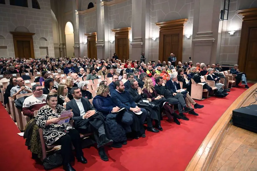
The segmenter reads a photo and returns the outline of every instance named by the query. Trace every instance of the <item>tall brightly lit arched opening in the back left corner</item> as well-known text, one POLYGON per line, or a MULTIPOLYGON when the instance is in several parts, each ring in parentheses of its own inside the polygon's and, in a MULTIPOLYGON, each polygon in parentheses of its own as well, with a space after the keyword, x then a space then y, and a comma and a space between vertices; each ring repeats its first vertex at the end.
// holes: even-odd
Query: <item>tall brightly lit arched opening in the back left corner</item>
POLYGON ((67 57, 74 56, 74 27, 71 21, 67 21, 65 24, 65 42, 66 42, 66 54, 67 57))

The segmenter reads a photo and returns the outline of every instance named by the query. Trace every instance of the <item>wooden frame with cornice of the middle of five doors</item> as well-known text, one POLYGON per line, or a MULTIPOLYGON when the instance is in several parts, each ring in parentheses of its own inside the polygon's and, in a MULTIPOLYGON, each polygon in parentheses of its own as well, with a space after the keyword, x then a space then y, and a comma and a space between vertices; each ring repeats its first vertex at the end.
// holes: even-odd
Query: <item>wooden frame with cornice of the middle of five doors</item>
MULTIPOLYGON (((115 33, 115 53, 118 54, 118 39, 120 38, 126 38, 127 46, 126 46, 126 56, 127 59, 129 59, 129 42, 128 42, 128 33, 131 27, 124 27, 124 28, 117 28, 112 29, 112 31, 115 33)), ((119 56, 118 56, 119 57, 119 56)), ((126 60, 127 60, 126 59, 126 60)), ((123 60, 123 59, 120 59, 123 60)))

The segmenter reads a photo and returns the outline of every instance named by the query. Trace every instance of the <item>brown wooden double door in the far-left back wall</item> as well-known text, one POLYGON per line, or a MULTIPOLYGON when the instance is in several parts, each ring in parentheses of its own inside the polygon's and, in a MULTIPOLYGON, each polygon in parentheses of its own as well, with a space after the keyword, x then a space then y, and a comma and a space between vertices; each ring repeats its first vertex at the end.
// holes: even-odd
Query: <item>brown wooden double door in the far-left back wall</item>
POLYGON ((17 41, 18 57, 29 59, 31 58, 30 41, 17 41))

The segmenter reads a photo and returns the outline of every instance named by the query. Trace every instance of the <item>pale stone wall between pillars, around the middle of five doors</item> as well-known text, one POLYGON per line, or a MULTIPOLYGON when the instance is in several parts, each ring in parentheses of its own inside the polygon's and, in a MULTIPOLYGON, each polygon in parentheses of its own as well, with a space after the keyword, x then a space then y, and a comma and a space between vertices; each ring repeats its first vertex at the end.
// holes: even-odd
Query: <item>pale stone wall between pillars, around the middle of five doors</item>
MULTIPOLYGON (((109 56, 113 56, 115 53, 115 42, 111 43, 110 40, 115 39, 115 34, 112 29, 131 27, 132 16, 132 2, 131 0, 118 3, 108 7, 108 30, 109 30, 109 56)), ((130 31, 131 34, 131 31, 130 31)), ((130 38, 132 36, 130 35, 130 38)), ((129 43, 129 56, 131 56, 132 47, 129 43)))

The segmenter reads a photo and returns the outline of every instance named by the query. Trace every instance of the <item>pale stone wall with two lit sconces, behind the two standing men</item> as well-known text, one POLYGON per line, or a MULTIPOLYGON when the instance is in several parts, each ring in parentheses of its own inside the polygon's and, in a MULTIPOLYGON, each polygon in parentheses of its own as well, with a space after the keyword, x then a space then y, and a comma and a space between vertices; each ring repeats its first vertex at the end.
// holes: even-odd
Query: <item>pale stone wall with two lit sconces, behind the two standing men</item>
MULTIPOLYGON (((192 34, 194 0, 151 0, 150 1, 150 34, 149 34, 149 60, 159 60, 159 28, 154 24, 162 21, 176 19, 188 19, 185 23, 184 34, 192 34), (156 40, 152 40, 156 37, 156 40)), ((183 56, 182 61, 189 60, 191 54, 192 36, 183 36, 183 56)))

